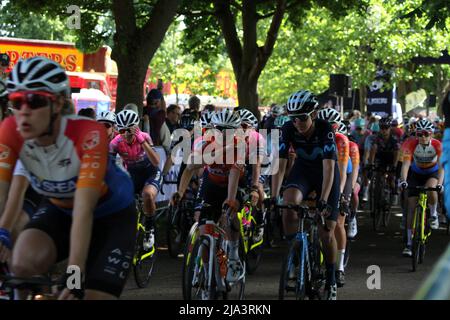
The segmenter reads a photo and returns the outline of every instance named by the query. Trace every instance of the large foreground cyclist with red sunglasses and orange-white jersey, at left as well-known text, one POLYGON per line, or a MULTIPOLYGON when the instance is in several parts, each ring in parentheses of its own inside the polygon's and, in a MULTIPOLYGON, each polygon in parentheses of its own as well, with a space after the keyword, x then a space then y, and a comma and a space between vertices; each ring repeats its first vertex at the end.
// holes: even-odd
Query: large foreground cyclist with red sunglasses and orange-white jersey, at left
MULTIPOLYGON (((108 157, 106 131, 95 121, 61 115, 69 79, 47 58, 19 60, 7 87, 14 117, 0 126, 0 197, 20 159, 30 184, 46 198, 17 239, 13 273, 44 274, 68 258, 69 266, 80 268, 82 286, 64 289, 60 299, 118 298, 133 255, 136 215, 131 180, 108 157)), ((8 208, 0 222, 3 253, 10 250, 6 240, 17 214, 8 208)))

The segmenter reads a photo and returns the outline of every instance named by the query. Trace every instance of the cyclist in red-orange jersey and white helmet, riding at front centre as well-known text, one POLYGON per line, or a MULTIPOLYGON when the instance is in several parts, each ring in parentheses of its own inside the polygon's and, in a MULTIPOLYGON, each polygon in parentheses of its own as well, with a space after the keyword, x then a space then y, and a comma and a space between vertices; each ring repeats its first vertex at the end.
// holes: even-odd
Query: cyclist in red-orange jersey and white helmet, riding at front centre
MULTIPOLYGON (((213 213, 214 221, 218 221, 224 207, 232 209, 230 215, 232 227, 228 230, 230 241, 228 243, 227 279, 230 282, 235 282, 244 271, 239 257, 239 221, 236 215, 239 204, 236 197, 239 180, 244 176, 243 163, 245 161, 245 159, 238 159, 239 153, 236 153, 236 150, 239 146, 245 145, 243 141, 238 141, 238 137, 235 134, 236 129, 239 129, 241 126, 238 112, 228 109, 217 111, 213 114, 211 123, 222 135, 216 135, 217 131, 208 130, 203 137, 194 141, 191 159, 181 177, 178 192, 172 195, 172 203, 176 204, 183 197, 193 174, 198 169, 205 167, 198 198, 202 203, 210 205, 208 211, 213 213), (212 133, 215 134, 213 135, 212 133), (216 140, 220 138, 224 140, 216 140), (228 152, 232 152, 232 163, 227 162, 230 158, 228 152), (195 162, 199 159, 201 159, 201 163, 195 162)), ((199 221, 202 224, 206 218, 203 216, 204 211, 201 210, 201 207, 197 207, 196 211, 201 212, 199 221)), ((200 226, 200 233, 202 232, 203 227, 200 226)))

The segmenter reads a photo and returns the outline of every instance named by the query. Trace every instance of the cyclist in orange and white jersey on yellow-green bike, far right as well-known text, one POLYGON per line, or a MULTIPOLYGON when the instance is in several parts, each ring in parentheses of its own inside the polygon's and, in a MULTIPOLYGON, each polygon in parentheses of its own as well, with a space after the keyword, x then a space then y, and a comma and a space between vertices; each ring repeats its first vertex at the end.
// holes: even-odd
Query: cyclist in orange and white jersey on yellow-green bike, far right
MULTIPOLYGON (((439 162, 442 154, 442 144, 433 139, 433 124, 428 119, 416 122, 416 138, 405 141, 402 145, 403 166, 399 186, 405 190, 408 186, 437 187, 443 190, 444 169, 439 162)), ((408 190, 407 235, 408 242, 403 250, 404 256, 411 256, 412 216, 417 204, 418 191, 408 190)), ((430 227, 439 228, 437 216, 438 196, 435 191, 428 192, 430 208, 430 227)))

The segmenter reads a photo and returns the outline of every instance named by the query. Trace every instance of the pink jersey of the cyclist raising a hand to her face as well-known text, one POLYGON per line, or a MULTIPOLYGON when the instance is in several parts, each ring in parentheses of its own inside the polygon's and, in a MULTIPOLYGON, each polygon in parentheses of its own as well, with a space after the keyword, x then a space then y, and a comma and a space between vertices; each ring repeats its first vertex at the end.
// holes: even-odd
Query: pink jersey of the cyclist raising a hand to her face
MULTIPOLYGON (((151 146, 153 145, 152 138, 145 133, 140 132, 145 141, 151 146)), ((119 154, 126 166, 142 162, 147 158, 144 147, 137 141, 136 137, 133 137, 133 142, 129 144, 122 135, 116 136, 109 144, 109 150, 112 154, 119 154)))

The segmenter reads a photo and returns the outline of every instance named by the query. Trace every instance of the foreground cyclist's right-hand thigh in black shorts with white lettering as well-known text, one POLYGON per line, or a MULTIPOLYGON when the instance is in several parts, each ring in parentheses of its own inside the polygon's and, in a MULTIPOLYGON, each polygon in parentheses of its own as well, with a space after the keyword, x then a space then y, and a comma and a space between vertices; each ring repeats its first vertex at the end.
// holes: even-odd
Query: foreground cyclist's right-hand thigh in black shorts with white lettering
POLYGON ((94 220, 86 262, 85 299, 117 299, 133 259, 136 208, 129 207, 94 220))

